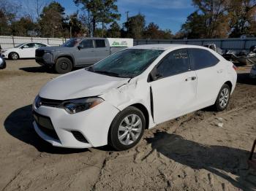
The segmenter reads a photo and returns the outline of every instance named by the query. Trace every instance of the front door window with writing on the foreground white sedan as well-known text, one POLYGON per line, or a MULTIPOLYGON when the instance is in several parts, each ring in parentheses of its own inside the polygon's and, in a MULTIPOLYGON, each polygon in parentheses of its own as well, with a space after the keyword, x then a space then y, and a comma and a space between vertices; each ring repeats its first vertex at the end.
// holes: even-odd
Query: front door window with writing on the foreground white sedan
POLYGON ((170 77, 176 74, 189 71, 190 63, 186 49, 174 50, 165 57, 159 66, 157 72, 162 77, 170 77))

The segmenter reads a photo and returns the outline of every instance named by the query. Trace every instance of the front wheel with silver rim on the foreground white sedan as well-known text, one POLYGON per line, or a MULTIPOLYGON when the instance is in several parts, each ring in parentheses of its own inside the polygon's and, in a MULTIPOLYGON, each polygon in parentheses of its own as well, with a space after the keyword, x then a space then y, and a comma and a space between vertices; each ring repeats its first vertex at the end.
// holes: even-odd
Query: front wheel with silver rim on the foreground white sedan
POLYGON ((118 151, 130 149, 138 144, 145 127, 146 120, 143 112, 136 107, 129 106, 119 112, 110 125, 108 144, 118 151))

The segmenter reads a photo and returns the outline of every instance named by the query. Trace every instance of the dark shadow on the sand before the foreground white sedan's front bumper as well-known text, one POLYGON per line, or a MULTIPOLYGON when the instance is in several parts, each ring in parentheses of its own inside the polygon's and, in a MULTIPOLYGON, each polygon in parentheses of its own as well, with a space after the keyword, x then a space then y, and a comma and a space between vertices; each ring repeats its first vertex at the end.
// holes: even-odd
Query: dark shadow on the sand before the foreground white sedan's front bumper
POLYGON ((32 106, 24 106, 12 112, 4 121, 4 128, 11 136, 33 145, 39 152, 48 152, 52 154, 71 154, 78 152, 86 152, 89 149, 67 149, 53 147, 48 142, 42 140, 34 130, 32 122, 32 106))

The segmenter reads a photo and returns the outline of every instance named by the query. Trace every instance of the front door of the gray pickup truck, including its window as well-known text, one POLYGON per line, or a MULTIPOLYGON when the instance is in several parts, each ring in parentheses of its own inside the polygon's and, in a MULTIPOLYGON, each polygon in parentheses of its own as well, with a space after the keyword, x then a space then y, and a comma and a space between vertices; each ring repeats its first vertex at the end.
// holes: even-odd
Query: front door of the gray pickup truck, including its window
POLYGON ((91 65, 95 63, 94 43, 92 39, 84 39, 75 50, 77 65, 91 65))

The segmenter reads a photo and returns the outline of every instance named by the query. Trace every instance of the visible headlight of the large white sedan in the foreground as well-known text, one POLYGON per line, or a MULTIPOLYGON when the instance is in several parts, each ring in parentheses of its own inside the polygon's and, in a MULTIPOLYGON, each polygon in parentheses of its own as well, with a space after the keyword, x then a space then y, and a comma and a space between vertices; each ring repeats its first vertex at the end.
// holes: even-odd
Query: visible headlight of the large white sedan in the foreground
POLYGON ((69 114, 75 114, 78 112, 83 112, 87 109, 91 109, 94 106, 97 106, 101 104, 104 100, 102 98, 79 98, 79 99, 73 99, 69 101, 65 101, 63 106, 64 109, 69 114))

